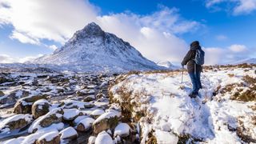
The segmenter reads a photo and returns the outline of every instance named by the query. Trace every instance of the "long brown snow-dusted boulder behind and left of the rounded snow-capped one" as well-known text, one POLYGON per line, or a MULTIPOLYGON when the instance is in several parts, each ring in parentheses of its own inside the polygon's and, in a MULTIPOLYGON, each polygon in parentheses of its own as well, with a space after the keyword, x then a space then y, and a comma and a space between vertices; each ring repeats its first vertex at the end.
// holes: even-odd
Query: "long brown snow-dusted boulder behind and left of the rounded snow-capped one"
POLYGON ((46 99, 47 95, 32 95, 26 98, 21 98, 14 106, 15 114, 31 114, 31 107, 33 103, 39 99, 46 99))

